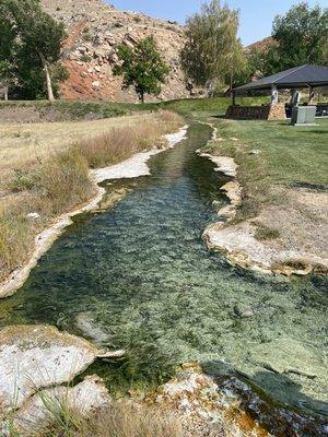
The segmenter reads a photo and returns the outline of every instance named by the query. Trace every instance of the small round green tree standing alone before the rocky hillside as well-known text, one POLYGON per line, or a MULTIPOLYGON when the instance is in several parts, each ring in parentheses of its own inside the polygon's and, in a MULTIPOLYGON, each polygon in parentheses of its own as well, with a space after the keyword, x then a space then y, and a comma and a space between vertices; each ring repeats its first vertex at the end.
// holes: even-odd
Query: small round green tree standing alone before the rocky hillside
POLYGON ((124 88, 134 86, 141 103, 144 103, 144 94, 161 93, 161 84, 165 82, 169 69, 153 36, 141 39, 133 48, 121 44, 117 55, 120 63, 115 66, 114 74, 124 76, 124 88))

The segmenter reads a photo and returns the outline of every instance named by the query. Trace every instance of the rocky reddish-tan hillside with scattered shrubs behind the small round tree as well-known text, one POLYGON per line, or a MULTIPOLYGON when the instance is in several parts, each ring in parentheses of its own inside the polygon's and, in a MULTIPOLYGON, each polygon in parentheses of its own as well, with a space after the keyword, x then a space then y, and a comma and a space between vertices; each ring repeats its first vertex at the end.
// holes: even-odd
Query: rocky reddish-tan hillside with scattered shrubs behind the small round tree
POLYGON ((134 91, 122 91, 121 79, 113 75, 118 61, 116 49, 121 43, 133 46, 149 35, 155 37, 171 67, 160 99, 189 95, 179 67, 184 31, 176 23, 119 11, 102 0, 42 0, 42 4, 67 28, 63 62, 70 76, 61 85, 63 98, 136 102, 134 91))

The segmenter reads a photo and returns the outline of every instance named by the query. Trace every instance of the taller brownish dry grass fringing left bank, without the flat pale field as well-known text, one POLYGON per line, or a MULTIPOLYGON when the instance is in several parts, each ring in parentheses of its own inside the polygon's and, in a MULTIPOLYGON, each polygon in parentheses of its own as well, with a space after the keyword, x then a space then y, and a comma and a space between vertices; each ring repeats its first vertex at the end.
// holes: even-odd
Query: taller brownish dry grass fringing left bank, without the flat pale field
POLYGON ((115 164, 138 151, 160 145, 163 134, 183 125, 179 116, 168 111, 140 120, 141 125, 136 120, 118 128, 112 125, 108 133, 57 153, 24 158, 28 164, 14 169, 10 164, 11 176, 0 184, 0 281, 26 261, 40 231, 93 196, 89 167, 115 164), (27 218, 28 213, 37 213, 39 218, 27 218))

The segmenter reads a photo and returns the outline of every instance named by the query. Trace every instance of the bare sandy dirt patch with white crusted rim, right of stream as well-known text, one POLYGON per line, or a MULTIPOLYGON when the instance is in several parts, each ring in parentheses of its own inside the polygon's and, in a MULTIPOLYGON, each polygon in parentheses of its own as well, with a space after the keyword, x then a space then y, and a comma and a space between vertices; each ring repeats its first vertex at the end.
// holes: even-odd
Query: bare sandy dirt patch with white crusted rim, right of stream
POLYGON ((328 193, 279 186, 272 190, 285 202, 263 208, 256 218, 209 226, 208 246, 247 269, 327 274, 328 193))

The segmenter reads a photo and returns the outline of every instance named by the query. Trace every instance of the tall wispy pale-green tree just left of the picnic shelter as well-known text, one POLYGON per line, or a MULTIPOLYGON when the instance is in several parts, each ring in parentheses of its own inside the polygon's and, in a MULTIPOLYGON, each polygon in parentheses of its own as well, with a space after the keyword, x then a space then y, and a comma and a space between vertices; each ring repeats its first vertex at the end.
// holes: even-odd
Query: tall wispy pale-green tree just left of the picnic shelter
POLYGON ((216 82, 229 82, 244 64, 237 38, 238 11, 211 0, 187 21, 187 43, 181 50, 185 74, 198 86, 212 90, 216 82))

